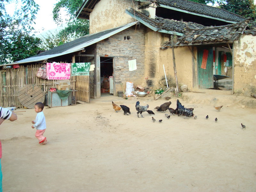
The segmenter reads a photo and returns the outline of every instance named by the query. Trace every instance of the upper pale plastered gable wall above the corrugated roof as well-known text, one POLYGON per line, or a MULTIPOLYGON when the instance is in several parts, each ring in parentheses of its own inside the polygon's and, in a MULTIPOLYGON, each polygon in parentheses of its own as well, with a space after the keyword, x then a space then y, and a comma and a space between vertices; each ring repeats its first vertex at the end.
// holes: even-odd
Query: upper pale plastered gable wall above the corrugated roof
POLYGON ((138 2, 131 0, 101 0, 90 13, 90 34, 136 21, 125 13, 125 9, 133 8, 134 5, 138 5, 138 2))

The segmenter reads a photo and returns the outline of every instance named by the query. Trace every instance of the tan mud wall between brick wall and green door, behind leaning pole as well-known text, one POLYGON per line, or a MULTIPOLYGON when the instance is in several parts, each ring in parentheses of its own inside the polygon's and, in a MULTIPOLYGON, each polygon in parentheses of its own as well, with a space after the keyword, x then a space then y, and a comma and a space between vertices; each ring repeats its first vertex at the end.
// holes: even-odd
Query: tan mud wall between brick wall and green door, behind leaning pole
MULTIPOLYGON (((147 29, 145 39, 145 76, 153 80, 156 86, 159 80, 164 77, 165 68, 166 76, 170 76, 175 82, 172 49, 159 49, 162 42, 169 41, 169 35, 147 29)), ((186 84, 188 89, 193 90, 193 61, 191 52, 187 47, 179 47, 174 48, 174 54, 179 84, 186 84)), ((145 84, 146 82, 143 85, 145 84)))

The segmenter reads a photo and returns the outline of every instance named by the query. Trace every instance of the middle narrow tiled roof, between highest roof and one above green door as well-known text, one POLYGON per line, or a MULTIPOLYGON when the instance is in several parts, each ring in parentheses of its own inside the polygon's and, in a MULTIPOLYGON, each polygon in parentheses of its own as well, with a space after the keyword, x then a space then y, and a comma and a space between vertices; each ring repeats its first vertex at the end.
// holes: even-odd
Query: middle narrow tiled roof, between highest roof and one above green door
POLYGON ((186 33, 187 28, 205 28, 205 26, 193 22, 181 22, 173 19, 164 19, 162 17, 157 16, 156 19, 151 19, 146 15, 142 14, 141 12, 135 11, 133 9, 129 9, 127 11, 131 13, 130 15, 132 17, 134 17, 135 15, 135 19, 141 19, 146 23, 150 24, 152 27, 155 27, 157 30, 164 29, 167 31, 176 31, 184 34, 186 33))

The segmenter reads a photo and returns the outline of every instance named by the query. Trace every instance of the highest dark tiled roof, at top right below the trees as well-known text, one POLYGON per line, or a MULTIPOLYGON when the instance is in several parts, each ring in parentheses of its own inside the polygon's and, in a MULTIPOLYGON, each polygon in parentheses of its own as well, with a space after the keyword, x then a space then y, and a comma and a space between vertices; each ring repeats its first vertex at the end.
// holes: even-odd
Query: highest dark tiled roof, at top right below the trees
POLYGON ((229 21, 236 21, 240 22, 244 20, 244 17, 241 17, 235 13, 226 11, 224 9, 220 9, 217 7, 212 7, 209 5, 204 5, 200 3, 195 3, 192 1, 186 1, 186 0, 157 0, 158 4, 167 5, 170 7, 175 7, 178 9, 186 10, 189 12, 204 14, 220 19, 225 19, 229 21))

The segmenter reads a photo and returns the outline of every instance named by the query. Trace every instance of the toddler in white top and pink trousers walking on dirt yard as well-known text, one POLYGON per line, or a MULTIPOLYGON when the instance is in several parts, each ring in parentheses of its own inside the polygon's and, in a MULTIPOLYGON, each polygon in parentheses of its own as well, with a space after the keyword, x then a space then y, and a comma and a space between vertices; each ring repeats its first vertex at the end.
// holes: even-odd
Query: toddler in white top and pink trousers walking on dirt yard
POLYGON ((43 136, 46 129, 46 122, 45 122, 43 109, 44 109, 43 103, 38 102, 35 104, 35 111, 37 115, 36 115, 36 120, 32 121, 34 125, 31 126, 33 129, 36 128, 35 136, 39 140, 40 145, 45 145, 47 142, 46 137, 43 136))

